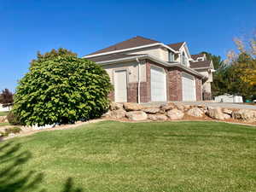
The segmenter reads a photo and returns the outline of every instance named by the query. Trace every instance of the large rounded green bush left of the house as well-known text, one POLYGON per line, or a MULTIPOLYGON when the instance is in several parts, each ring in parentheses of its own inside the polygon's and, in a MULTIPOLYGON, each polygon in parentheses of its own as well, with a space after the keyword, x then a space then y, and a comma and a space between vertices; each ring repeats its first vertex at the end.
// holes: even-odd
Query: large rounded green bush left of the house
POLYGON ((23 125, 93 119, 107 110, 111 90, 108 73, 92 61, 40 55, 19 82, 12 112, 23 125))

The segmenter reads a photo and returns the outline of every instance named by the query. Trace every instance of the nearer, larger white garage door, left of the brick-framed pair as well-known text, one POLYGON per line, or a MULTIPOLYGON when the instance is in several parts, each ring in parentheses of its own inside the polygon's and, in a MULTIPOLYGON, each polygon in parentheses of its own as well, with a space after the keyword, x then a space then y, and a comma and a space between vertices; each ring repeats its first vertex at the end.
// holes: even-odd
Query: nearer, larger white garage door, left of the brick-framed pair
POLYGON ((163 68, 151 67, 151 101, 166 102, 166 73, 163 68))

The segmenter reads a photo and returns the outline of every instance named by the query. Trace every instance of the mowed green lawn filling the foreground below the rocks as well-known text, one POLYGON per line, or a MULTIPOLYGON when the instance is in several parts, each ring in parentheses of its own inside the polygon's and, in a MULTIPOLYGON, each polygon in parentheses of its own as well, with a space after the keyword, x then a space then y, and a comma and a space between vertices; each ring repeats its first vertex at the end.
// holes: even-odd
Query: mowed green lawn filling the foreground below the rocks
POLYGON ((256 128, 117 123, 0 143, 0 191, 256 191, 256 128))

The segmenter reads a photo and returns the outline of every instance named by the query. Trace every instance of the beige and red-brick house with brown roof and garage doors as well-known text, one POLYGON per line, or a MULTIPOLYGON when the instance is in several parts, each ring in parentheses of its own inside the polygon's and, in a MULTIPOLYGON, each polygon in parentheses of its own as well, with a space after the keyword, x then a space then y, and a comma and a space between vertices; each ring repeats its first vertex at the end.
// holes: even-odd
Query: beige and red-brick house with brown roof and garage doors
MULTIPOLYGON (((185 42, 163 44, 135 37, 97 50, 84 58, 107 72, 114 87, 114 102, 201 101, 204 85, 212 82, 206 58, 190 55, 185 42), (202 60, 201 60, 202 59, 202 60), (207 73, 205 73, 207 71, 207 73)), ((210 91, 210 90, 208 90, 210 91)))

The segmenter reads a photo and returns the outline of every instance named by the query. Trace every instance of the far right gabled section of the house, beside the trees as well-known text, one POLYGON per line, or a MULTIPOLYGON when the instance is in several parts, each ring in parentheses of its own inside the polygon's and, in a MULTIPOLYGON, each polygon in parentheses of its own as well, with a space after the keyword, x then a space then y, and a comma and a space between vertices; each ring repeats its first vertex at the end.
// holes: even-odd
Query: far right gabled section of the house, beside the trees
POLYGON ((190 67, 195 71, 207 77, 207 80, 202 84, 202 93, 204 100, 212 99, 212 73, 215 72, 212 61, 207 61, 205 54, 191 55, 192 61, 189 61, 190 67))

